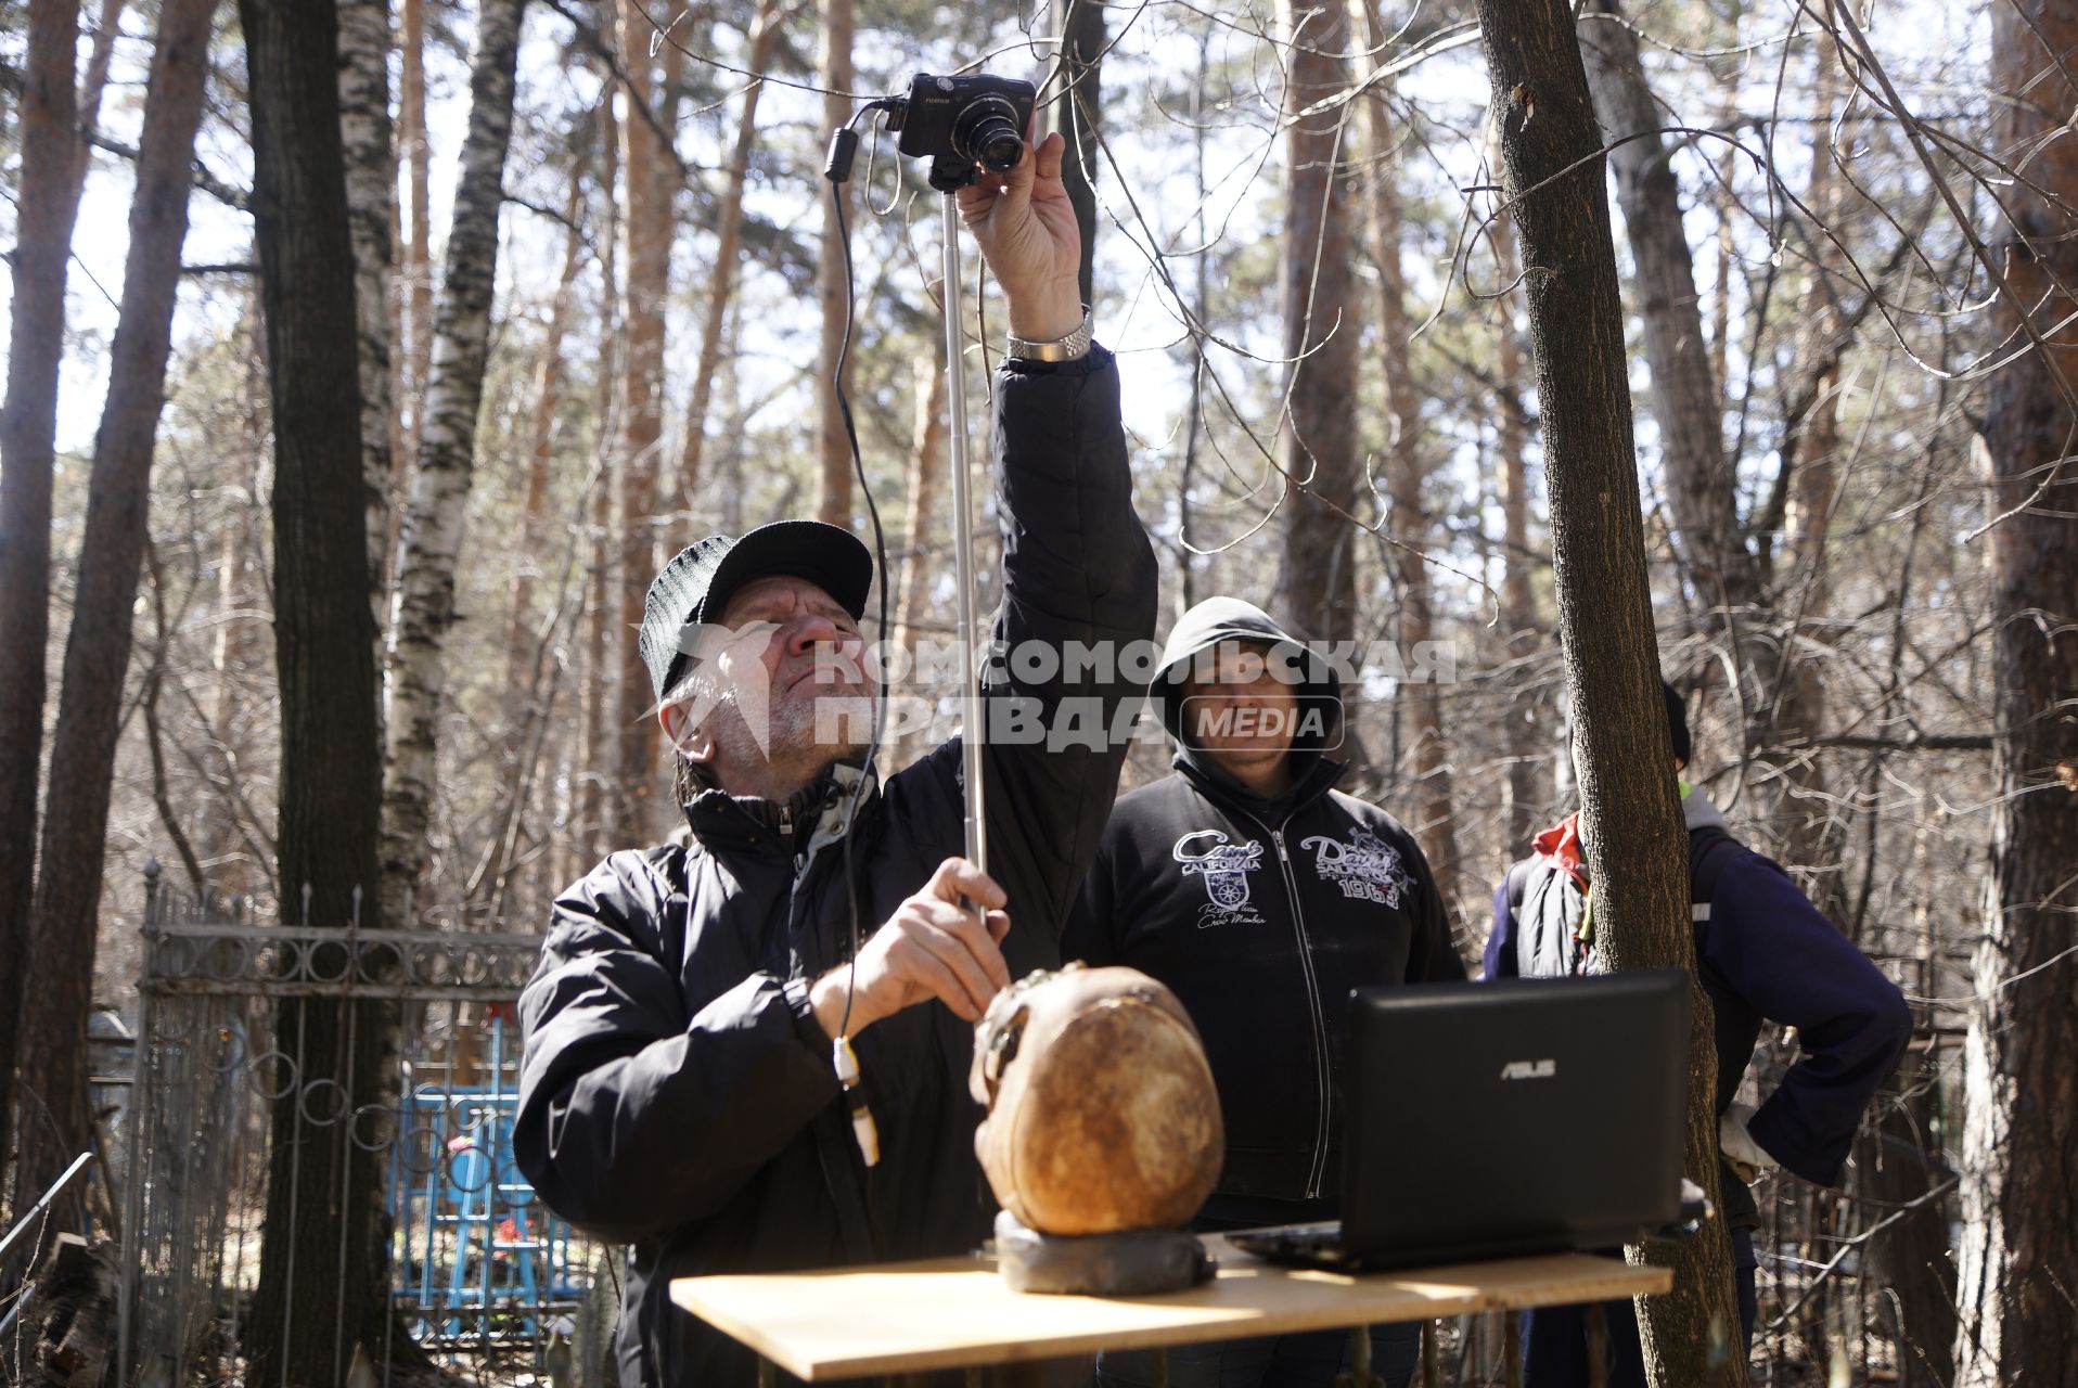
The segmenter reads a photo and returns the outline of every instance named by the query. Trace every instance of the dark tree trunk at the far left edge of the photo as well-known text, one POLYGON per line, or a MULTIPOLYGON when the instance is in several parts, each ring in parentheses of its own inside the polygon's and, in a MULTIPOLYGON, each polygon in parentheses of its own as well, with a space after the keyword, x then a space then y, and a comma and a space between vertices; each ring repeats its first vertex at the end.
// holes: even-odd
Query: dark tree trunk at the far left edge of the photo
MULTIPOLYGON (((0 1176, 15 1114, 15 1020, 35 904, 35 788, 50 644, 50 484, 64 357, 64 268, 79 210, 77 0, 29 6, 15 185, 15 320, 0 418, 0 1176)), ((33 1201, 39 1193, 21 1193, 33 1201)))

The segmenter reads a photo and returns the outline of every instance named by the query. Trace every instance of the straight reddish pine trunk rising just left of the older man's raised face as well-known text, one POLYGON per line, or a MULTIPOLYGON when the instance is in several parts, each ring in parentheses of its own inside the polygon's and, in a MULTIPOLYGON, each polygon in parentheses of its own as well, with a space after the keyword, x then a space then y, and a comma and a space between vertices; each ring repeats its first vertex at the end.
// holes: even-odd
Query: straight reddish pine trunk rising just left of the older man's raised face
POLYGON ((650 21, 640 0, 621 0, 621 66, 628 73, 628 116, 621 121, 621 179, 625 181, 628 308, 621 328, 621 679, 617 765, 613 773, 611 837, 617 848, 650 839, 661 819, 657 802, 657 719, 648 667, 636 652, 642 594, 657 576, 657 474, 663 438, 663 341, 671 293, 671 197, 661 181, 667 150, 657 135, 657 83, 650 62, 650 21), (648 118, 644 118, 648 112, 648 118))

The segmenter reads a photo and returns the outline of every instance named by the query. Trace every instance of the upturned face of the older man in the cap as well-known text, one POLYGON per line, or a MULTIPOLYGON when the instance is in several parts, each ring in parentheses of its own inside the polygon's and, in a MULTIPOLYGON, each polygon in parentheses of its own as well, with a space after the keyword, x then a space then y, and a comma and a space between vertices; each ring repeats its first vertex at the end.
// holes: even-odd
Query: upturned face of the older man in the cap
POLYGON ((877 690, 862 652, 858 621, 819 586, 754 580, 700 632, 665 731, 736 794, 758 792, 756 763, 806 781, 873 736, 877 690))

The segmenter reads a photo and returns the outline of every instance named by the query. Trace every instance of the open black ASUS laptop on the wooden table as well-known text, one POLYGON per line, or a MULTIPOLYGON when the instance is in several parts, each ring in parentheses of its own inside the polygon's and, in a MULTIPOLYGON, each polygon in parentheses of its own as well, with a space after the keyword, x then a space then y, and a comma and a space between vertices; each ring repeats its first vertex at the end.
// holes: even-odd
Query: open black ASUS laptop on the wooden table
POLYGON ((1342 1218, 1228 1234, 1371 1270, 1606 1249, 1677 1224, 1687 975, 1357 989, 1342 1218))

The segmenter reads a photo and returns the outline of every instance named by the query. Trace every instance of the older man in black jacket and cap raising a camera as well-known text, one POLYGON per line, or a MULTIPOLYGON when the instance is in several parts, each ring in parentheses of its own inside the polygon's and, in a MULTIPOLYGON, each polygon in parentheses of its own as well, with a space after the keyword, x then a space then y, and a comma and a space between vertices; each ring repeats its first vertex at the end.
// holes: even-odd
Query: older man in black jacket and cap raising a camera
MULTIPOLYGON (((1126 646, 1151 636, 1155 565, 1118 374, 1076 295, 1060 160, 1054 135, 960 193, 1012 332, 995 380, 995 636, 1126 646)), ((642 648, 692 773, 692 842, 613 854, 569 887, 520 1002, 520 1166, 549 1207, 634 1245, 623 1384, 754 1382, 744 1346, 669 1305, 671 1278, 943 1255, 989 1230, 970 1022, 1012 977, 1058 962, 1124 746, 991 742, 991 873, 956 858, 958 744, 877 788, 844 717, 877 696, 852 659, 871 576, 856 538, 815 522, 704 540, 659 576, 642 648), (962 898, 991 908, 987 927, 962 898), (877 1162, 840 1093, 840 1035, 877 1162)), ((1110 725, 1128 692, 1118 661, 1060 665, 991 686, 1020 704, 1006 723, 1078 704, 1110 725)))

